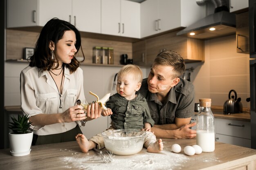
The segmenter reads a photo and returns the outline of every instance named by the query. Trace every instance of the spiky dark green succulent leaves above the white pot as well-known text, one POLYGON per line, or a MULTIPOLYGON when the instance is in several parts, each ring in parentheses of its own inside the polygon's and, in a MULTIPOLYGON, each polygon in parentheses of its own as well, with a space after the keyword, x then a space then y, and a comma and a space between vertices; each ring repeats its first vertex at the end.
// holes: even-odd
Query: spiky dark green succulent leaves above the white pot
POLYGON ((9 121, 9 126, 13 134, 25 134, 29 133, 29 127, 31 126, 31 121, 29 121, 28 114, 18 115, 18 120, 15 117, 11 117, 13 122, 9 121))

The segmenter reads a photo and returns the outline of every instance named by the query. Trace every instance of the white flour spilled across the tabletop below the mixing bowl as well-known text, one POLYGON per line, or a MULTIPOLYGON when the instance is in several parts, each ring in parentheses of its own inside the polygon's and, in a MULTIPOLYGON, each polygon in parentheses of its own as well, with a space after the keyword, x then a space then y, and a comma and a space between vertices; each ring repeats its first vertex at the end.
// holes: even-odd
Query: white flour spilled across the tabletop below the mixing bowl
POLYGON ((173 153, 171 150, 149 153, 146 148, 143 148, 140 154, 125 157, 115 155, 111 163, 103 163, 99 154, 95 156, 92 152, 61 151, 70 152, 70 156, 60 158, 65 163, 65 168, 79 170, 173 170, 173 168, 183 169, 184 163, 189 160, 189 157, 173 153))

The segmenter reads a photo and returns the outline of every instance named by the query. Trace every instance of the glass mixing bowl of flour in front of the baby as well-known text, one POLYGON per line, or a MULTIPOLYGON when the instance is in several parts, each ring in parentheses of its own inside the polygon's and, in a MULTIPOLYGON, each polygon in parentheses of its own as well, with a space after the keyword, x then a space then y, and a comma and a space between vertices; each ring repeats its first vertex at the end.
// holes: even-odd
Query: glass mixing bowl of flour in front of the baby
POLYGON ((115 155, 133 155, 141 151, 146 132, 135 129, 102 132, 107 150, 115 155))

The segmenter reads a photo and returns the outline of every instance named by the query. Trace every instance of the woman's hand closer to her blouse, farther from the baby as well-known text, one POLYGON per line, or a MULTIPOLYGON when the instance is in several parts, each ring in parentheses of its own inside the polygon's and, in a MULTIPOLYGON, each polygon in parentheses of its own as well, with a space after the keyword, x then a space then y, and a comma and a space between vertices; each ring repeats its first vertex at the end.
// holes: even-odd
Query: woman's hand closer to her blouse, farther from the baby
POLYGON ((72 122, 79 121, 86 118, 85 111, 83 110, 83 106, 76 105, 68 108, 65 112, 61 114, 62 122, 72 122))

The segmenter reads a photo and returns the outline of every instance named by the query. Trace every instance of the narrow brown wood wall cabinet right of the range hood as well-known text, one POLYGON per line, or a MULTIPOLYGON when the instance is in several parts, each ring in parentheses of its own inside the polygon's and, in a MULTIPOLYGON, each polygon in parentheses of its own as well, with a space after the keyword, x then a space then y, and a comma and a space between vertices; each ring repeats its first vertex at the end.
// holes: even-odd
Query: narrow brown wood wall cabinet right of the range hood
POLYGON ((249 12, 236 14, 236 52, 249 54, 249 12))

